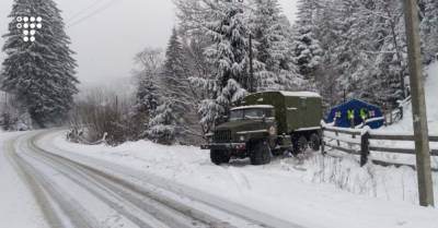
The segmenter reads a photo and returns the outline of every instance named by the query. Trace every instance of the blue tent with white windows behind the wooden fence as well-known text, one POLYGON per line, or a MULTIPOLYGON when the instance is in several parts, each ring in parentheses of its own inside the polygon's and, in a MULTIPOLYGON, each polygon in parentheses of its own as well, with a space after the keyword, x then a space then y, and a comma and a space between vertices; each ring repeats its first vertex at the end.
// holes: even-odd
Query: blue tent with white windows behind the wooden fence
POLYGON ((339 128, 351 128, 366 123, 371 129, 379 129, 384 124, 382 110, 371 104, 365 103, 359 99, 351 99, 334 107, 325 122, 333 123, 339 128))

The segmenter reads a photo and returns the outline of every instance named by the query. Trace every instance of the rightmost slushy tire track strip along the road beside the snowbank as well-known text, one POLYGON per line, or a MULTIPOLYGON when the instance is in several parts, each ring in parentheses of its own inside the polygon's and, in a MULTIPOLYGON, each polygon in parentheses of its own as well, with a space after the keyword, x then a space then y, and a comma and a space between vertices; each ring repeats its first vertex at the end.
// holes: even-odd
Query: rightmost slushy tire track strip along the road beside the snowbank
MULTIPOLYGON (((39 135, 35 137, 34 140, 35 146, 41 147, 37 145, 36 142, 44 136, 45 135, 39 135)), ((127 184, 132 184, 132 182, 126 181, 129 179, 129 180, 135 180, 136 182, 138 181, 141 184, 152 185, 158 190, 164 190, 166 192, 184 196, 189 201, 200 204, 205 207, 212 208, 217 212, 230 215, 240 220, 245 220, 247 221, 246 225, 252 225, 254 227, 263 227, 263 228, 306 228, 303 226, 255 211, 251 207, 238 204, 235 202, 220 199, 218 196, 211 195, 210 193, 198 191, 192 187, 186 187, 180 183, 170 182, 169 180, 154 176, 153 173, 147 173, 139 170, 130 169, 127 167, 123 167, 118 164, 100 160, 93 157, 77 155, 68 151, 62 151, 58 147, 49 146, 49 149, 59 151, 61 152, 61 154, 53 154, 48 151, 46 151, 46 153, 53 154, 58 157, 62 157, 65 159, 69 159, 70 161, 76 163, 85 168, 91 168, 97 172, 103 173, 104 176, 108 176, 111 179, 114 178, 116 181, 118 180, 127 182, 127 184), (93 167, 91 167, 91 164, 93 165, 93 167), (114 175, 108 175, 108 173, 114 173, 114 175)), ((135 188, 138 188, 137 185, 134 184, 135 188)), ((142 190, 141 187, 139 189, 142 190)))

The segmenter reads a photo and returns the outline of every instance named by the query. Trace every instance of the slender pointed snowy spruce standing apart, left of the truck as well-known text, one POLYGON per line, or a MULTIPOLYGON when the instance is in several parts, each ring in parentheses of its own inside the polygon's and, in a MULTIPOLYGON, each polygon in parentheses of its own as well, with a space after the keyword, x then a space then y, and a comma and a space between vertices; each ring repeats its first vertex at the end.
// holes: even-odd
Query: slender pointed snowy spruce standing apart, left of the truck
POLYGON ((162 104, 157 108, 149 129, 151 139, 171 144, 186 133, 191 91, 182 44, 176 28, 173 28, 160 74, 162 104))

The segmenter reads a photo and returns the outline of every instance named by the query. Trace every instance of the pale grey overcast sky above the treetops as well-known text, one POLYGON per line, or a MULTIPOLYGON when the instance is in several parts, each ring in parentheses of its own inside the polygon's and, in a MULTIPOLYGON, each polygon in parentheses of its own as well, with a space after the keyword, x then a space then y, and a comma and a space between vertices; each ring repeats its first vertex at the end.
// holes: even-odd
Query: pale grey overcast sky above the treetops
MULTIPOLYGON (((78 53, 78 77, 96 84, 128 79, 132 57, 145 47, 165 47, 175 25, 172 0, 55 0, 78 53), (87 10, 85 10, 87 9, 87 10), (94 14, 88 17, 88 15, 94 14), (83 19, 83 20, 81 20, 83 19)), ((290 20, 297 0, 280 0, 290 20)), ((0 1, 0 34, 7 31, 13 0, 0 1)), ((4 39, 0 38, 0 47, 4 39)), ((0 53, 0 60, 4 58, 0 53)))

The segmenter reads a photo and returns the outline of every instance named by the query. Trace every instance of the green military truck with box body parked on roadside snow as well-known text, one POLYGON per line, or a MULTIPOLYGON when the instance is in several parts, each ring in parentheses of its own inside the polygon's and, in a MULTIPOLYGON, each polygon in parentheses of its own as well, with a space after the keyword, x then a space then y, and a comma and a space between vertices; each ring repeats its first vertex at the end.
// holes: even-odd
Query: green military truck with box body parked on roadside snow
POLYGON ((227 121, 207 135, 211 161, 251 158, 252 165, 270 163, 272 155, 298 154, 321 146, 322 98, 310 92, 264 92, 246 96, 227 121))

